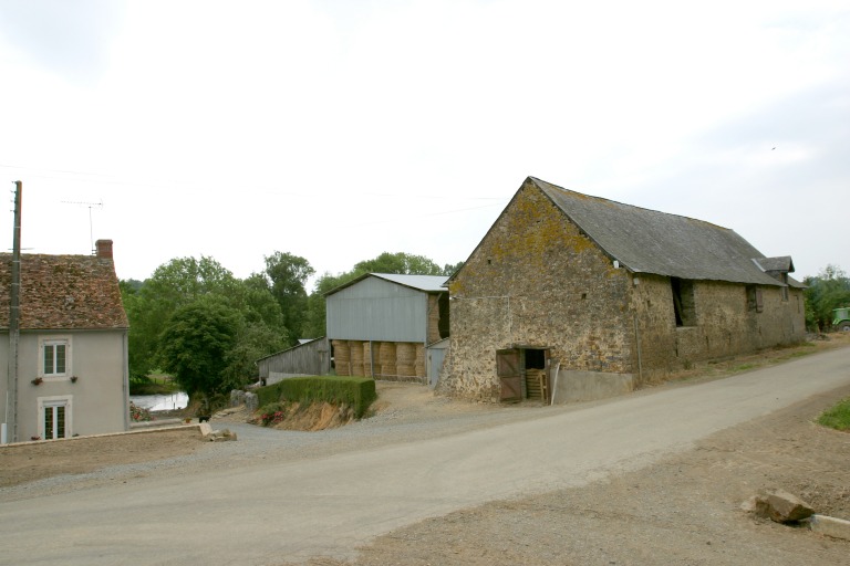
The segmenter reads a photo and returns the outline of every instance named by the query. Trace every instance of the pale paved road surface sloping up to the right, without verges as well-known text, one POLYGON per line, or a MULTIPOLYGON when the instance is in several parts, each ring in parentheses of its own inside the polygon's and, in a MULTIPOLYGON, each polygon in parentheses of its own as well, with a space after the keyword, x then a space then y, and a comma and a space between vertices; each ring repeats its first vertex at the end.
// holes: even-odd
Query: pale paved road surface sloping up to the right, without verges
POLYGON ((435 440, 4 502, 0 564, 212 566, 351 557, 356 546, 400 526, 636 470, 847 384, 850 348, 435 440))

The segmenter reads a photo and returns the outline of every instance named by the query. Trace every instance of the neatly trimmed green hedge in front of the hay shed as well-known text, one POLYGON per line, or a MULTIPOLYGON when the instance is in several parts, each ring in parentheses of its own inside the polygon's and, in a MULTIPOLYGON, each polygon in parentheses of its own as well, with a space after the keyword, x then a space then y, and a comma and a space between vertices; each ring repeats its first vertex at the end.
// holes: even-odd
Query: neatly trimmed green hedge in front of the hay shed
POLYGON ((359 419, 377 399, 375 380, 370 377, 322 376, 290 377, 257 389, 260 407, 278 401, 326 401, 349 405, 359 419))

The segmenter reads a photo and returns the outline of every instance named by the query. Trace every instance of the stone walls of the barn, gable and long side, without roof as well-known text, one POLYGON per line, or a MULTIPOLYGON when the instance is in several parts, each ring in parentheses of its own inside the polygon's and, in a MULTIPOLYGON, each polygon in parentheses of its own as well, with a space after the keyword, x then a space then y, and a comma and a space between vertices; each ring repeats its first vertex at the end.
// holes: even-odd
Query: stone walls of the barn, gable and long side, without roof
POLYGON ((805 337, 801 292, 785 301, 781 287, 767 285, 756 310, 755 287, 683 280, 688 312, 677 326, 670 277, 615 266, 528 185, 449 285, 450 356, 437 389, 470 400, 499 400, 499 349, 548 348, 583 398, 595 388, 588 376, 618 376, 601 390, 620 391, 693 361, 805 337))

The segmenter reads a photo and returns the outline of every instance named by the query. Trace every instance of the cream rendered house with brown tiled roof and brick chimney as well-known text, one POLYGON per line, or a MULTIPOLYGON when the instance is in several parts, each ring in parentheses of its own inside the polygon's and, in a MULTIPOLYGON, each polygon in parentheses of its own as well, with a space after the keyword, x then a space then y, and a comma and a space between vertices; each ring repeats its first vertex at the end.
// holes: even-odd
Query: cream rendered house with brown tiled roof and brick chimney
POLYGON ((21 255, 17 381, 12 255, 0 254, 0 417, 8 441, 127 430, 128 324, 112 254, 112 240, 99 240, 94 255, 21 255))

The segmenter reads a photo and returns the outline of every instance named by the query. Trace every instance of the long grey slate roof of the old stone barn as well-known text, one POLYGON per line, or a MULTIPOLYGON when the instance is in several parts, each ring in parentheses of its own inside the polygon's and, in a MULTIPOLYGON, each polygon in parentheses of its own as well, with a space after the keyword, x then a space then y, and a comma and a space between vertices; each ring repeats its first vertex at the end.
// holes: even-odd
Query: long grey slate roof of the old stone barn
MULTIPOLYGON (((764 261, 765 255, 733 230, 703 220, 590 197, 535 177, 529 177, 526 182, 542 190, 612 260, 634 273, 782 285, 755 263, 754 260, 764 261)), ((788 266, 792 266, 790 258, 787 259, 788 266)), ((802 286, 790 277, 788 283, 802 286)))

